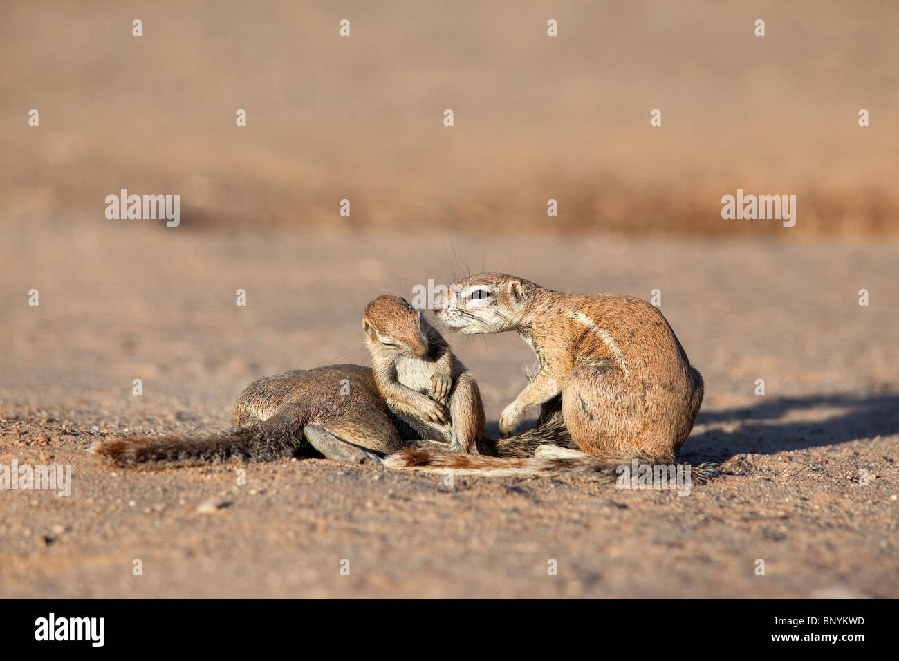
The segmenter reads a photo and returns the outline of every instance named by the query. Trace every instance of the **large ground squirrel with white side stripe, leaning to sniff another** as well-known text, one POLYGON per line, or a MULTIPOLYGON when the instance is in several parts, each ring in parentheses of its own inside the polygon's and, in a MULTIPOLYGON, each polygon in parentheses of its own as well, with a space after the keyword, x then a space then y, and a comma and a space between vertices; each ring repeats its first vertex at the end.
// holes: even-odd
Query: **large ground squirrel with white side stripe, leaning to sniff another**
MULTIPOLYGON (((594 455, 582 468, 605 475, 630 458, 672 462, 690 433, 702 403, 702 377, 662 313, 644 300, 565 294, 483 273, 454 282, 437 303, 436 317, 449 328, 465 334, 516 331, 537 354, 538 370, 503 410, 502 433, 511 433, 532 406, 561 396, 568 432, 594 455)), ((556 461, 587 459, 554 448, 537 454, 521 466, 539 472, 556 461)), ((428 451, 403 451, 393 463, 494 473, 514 464, 428 451)))

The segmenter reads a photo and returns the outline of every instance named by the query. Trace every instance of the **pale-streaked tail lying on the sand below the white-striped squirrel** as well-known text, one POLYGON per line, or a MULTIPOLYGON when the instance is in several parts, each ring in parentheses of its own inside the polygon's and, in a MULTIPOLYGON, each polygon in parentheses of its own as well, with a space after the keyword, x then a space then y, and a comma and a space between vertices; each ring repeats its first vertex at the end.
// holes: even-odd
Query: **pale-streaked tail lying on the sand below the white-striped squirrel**
MULTIPOLYGON (((384 460, 389 469, 424 470, 454 475, 490 478, 574 478, 582 482, 615 482, 622 474, 620 466, 655 465, 659 460, 641 454, 608 456, 583 455, 553 446, 539 448, 537 456, 526 459, 503 459, 437 450, 406 448, 384 460), (575 456, 577 455, 577 456, 575 456)), ((690 483, 704 484, 718 475, 710 463, 690 467, 690 483)))

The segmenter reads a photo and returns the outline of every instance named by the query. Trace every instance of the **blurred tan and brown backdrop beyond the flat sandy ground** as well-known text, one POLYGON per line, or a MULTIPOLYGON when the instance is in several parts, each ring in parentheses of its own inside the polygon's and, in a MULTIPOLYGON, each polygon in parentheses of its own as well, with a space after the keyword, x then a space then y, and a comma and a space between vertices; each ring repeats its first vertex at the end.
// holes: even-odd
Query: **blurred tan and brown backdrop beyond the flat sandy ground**
POLYGON ((897 231, 893 2, 7 1, 0 12, 6 217, 80 213, 109 228, 103 199, 127 188, 181 194, 183 224, 203 231, 897 231), (722 220, 721 196, 737 188, 797 194, 797 228, 722 220), (559 215, 547 219, 550 198, 559 215))

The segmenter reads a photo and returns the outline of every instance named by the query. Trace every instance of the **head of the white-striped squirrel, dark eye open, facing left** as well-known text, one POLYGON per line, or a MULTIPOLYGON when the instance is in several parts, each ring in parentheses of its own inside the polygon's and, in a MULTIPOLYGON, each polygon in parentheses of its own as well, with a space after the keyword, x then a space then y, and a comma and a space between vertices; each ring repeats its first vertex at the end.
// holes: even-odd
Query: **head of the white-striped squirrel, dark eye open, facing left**
POLYGON ((458 333, 518 330, 539 286, 504 273, 480 273, 453 282, 435 301, 436 317, 458 333))

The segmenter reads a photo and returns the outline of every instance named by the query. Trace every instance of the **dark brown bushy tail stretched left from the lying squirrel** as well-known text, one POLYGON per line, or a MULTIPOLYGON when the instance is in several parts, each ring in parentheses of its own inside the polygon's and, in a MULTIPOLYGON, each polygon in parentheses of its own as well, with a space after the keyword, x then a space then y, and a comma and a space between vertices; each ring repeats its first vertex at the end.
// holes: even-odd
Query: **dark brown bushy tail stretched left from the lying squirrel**
POLYGON ((123 436, 96 442, 90 451, 116 466, 190 466, 229 459, 274 460, 293 455, 302 438, 258 425, 203 434, 123 436))

